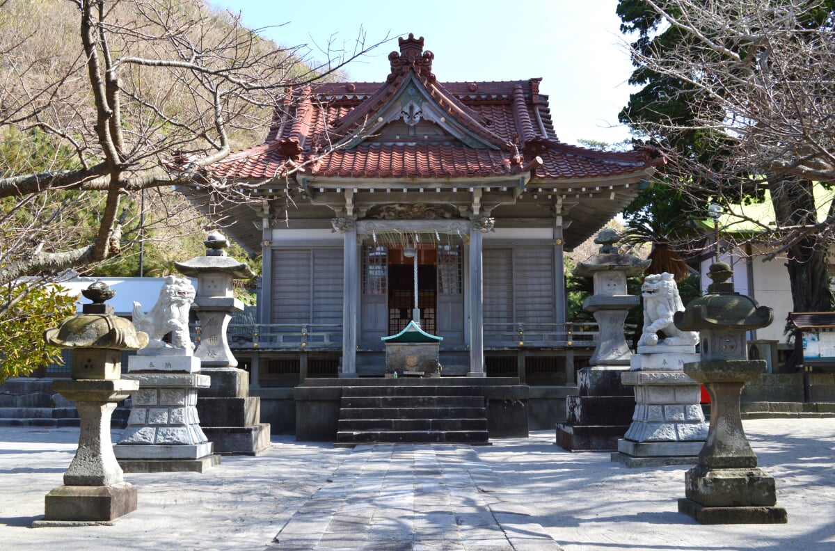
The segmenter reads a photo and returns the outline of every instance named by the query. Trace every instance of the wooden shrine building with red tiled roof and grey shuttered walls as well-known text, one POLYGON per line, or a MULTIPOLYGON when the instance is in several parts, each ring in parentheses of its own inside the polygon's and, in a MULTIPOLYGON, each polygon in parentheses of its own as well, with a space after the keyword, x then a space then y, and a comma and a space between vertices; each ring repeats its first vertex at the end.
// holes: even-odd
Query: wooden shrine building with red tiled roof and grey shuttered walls
POLYGON ((210 167, 261 197, 224 228, 263 255, 235 355, 256 388, 380 377, 382 337, 414 317, 443 337, 443 376, 573 384, 594 331, 566 323, 564 250, 660 159, 561 143, 540 78, 442 83, 423 38, 399 47, 382 82, 296 89, 265 143, 210 167))

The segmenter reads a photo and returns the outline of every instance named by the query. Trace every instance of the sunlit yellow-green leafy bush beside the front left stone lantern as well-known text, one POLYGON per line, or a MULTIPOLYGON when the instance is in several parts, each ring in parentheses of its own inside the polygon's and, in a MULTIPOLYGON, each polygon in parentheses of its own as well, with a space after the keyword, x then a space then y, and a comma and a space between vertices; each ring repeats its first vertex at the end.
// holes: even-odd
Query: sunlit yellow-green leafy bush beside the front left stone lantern
POLYGON ((74 298, 62 295, 60 286, 3 286, 0 301, 0 383, 8 377, 23 377, 38 367, 61 361, 61 351, 47 346, 43 331, 75 313, 74 298))

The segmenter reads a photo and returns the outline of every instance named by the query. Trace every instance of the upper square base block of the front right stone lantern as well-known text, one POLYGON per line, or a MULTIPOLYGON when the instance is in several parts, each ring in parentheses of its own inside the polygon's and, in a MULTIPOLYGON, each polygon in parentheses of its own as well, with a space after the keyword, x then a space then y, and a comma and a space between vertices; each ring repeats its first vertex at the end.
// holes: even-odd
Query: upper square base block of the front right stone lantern
POLYGON ((772 507, 777 503, 774 478, 760 468, 697 465, 685 473, 685 495, 705 507, 772 507))

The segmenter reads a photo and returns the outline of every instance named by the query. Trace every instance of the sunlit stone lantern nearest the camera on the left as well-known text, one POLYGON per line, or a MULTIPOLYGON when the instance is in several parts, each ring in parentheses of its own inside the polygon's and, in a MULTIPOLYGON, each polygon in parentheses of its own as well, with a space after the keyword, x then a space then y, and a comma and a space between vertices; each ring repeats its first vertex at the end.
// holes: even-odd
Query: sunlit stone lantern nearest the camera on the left
POLYGON ((82 294, 93 303, 44 334, 48 344, 73 351, 72 379, 53 381, 53 390, 75 401, 80 432, 64 485, 47 494, 43 521, 33 526, 107 522, 136 508, 136 488, 124 482, 110 442, 110 416, 116 402, 139 388, 138 382, 121 379, 122 351, 139 350, 148 336, 114 316, 104 301, 115 292, 101 281, 82 294))

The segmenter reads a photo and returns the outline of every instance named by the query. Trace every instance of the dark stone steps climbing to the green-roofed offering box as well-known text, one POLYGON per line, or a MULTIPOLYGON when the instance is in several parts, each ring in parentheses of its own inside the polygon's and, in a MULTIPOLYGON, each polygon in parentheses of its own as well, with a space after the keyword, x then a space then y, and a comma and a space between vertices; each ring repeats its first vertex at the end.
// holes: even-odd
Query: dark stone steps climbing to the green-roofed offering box
POLYGON ((363 443, 488 444, 483 389, 409 384, 383 379, 379 386, 344 387, 337 445, 363 443))

